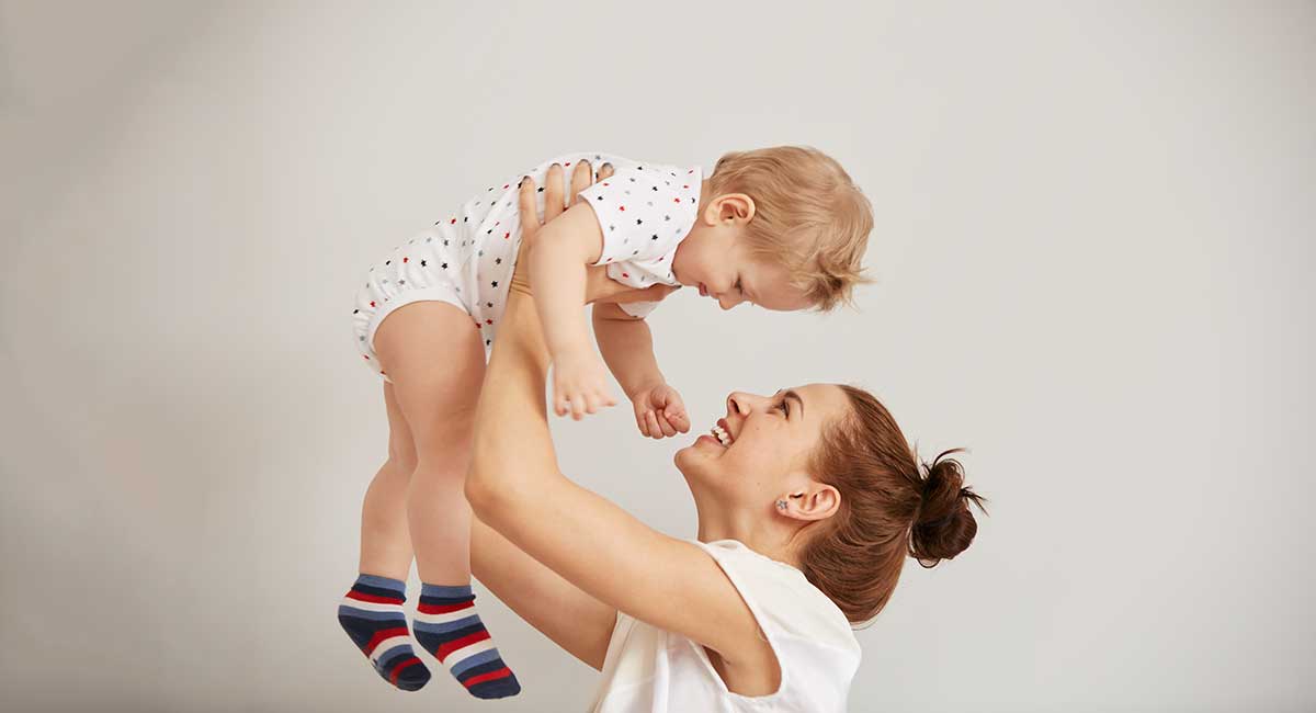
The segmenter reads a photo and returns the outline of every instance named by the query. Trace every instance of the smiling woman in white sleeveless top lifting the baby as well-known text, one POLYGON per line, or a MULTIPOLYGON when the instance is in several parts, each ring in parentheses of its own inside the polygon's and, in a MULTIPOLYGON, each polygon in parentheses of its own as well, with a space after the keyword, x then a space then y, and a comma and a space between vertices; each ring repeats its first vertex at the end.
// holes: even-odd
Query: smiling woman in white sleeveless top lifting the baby
MULTIPOLYGON (((576 166, 572 199, 591 171, 576 166)), ((562 212, 561 185, 550 172, 545 220, 562 212)), ((521 189, 529 250, 541 249, 534 191, 521 189)), ((719 437, 675 458, 697 539, 658 533, 558 471, 547 353, 517 274, 474 417, 475 576, 603 671, 594 710, 845 710, 859 663, 851 625, 882 609, 907 555, 933 566, 973 541, 967 504, 978 496, 959 464, 942 454, 920 472, 895 421, 861 389, 734 392, 719 437)), ((601 271, 587 288, 590 301, 655 296, 601 271)), ((421 329, 405 312, 392 329, 421 329)), ((405 433, 387 396, 390 422, 405 433)))

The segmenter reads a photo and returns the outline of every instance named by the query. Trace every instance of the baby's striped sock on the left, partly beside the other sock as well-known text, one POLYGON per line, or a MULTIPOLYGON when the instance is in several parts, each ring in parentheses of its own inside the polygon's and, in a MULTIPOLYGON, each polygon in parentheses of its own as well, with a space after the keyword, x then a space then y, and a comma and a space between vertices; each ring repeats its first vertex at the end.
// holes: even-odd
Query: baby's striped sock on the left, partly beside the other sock
POLYGON ((416 691, 429 681, 429 670, 411 647, 403 614, 405 593, 404 581, 361 575, 338 605, 338 624, 384 680, 416 691))

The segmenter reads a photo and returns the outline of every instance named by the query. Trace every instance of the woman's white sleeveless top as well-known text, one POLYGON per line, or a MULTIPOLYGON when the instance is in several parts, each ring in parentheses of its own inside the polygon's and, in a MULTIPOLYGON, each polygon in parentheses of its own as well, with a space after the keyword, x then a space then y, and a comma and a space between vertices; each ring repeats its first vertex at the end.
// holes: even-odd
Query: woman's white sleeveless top
POLYGON ((766 696, 726 684, 704 647, 617 613, 594 713, 844 712, 859 667, 859 642, 845 614, 804 574, 734 539, 696 542, 740 591, 782 668, 766 696))

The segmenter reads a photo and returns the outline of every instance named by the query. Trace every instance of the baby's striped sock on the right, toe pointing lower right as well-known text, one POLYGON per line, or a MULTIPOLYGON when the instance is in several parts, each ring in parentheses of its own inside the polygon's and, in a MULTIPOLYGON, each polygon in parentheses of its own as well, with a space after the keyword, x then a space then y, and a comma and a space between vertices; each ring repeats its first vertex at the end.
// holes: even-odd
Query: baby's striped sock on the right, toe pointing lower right
POLYGON ((416 641, 476 699, 503 699, 521 692, 516 675, 503 663, 475 613, 470 584, 425 584, 412 629, 416 641))

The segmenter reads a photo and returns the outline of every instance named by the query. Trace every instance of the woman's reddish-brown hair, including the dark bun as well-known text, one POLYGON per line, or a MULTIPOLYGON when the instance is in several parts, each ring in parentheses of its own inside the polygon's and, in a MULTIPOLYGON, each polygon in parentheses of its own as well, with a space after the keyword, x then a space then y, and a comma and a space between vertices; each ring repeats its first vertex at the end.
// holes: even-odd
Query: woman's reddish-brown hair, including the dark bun
POLYGON ((886 606, 904 558, 924 567, 969 547, 978 522, 969 504, 984 499, 965 487, 959 462, 944 451, 919 463, 891 413, 867 391, 841 384, 851 413, 829 424, 812 455, 812 472, 841 493, 840 510, 817 524, 800 553, 801 570, 851 624, 886 606))

